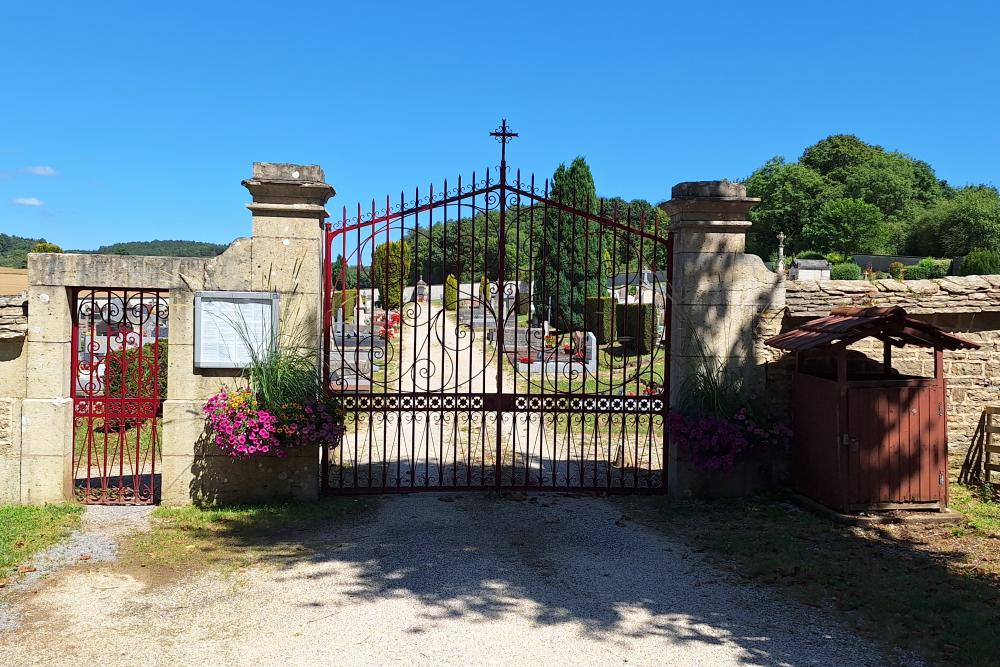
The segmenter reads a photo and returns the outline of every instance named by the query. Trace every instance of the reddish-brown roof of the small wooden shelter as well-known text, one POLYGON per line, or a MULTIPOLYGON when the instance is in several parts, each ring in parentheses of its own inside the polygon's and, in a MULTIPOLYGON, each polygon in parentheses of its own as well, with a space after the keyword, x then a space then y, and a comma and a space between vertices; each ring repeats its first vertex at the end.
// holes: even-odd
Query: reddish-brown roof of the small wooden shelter
POLYGON ((959 338, 927 322, 913 319, 899 306, 890 308, 834 308, 826 317, 765 341, 771 347, 792 352, 831 345, 849 345, 863 338, 878 338, 895 347, 917 345, 943 350, 976 349, 978 343, 959 338))

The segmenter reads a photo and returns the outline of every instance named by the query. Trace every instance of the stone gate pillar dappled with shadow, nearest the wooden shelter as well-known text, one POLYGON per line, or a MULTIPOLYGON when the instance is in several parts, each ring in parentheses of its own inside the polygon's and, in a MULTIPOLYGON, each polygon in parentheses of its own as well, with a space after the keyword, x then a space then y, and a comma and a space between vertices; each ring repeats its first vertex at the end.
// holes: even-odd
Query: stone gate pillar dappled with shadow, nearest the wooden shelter
MULTIPOLYGON (((763 390, 758 340, 762 316, 784 308, 781 276, 746 254, 747 213, 759 199, 728 181, 678 183, 662 205, 674 237, 670 406, 681 403, 689 378, 703 366, 722 366, 744 378, 745 390, 763 390)), ((741 471, 729 479, 699 473, 675 445, 669 452, 668 485, 674 497, 739 493, 741 471)))

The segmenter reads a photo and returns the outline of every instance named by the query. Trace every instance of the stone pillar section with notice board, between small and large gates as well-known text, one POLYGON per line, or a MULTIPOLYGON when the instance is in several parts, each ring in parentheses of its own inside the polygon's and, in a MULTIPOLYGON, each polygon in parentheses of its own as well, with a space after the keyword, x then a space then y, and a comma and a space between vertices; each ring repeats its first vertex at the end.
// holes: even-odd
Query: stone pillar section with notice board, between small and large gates
POLYGON ((193 303, 197 290, 277 292, 279 335, 309 350, 320 368, 323 221, 334 189, 316 165, 256 162, 243 181, 253 201, 253 236, 234 241, 204 267, 202 279, 181 276, 170 290, 170 375, 164 405, 163 502, 255 502, 319 495, 317 447, 283 459, 234 464, 205 442, 201 406, 240 371, 193 368, 193 303), (192 372, 193 371, 193 372, 192 372), (192 451, 191 443, 195 447, 192 451))

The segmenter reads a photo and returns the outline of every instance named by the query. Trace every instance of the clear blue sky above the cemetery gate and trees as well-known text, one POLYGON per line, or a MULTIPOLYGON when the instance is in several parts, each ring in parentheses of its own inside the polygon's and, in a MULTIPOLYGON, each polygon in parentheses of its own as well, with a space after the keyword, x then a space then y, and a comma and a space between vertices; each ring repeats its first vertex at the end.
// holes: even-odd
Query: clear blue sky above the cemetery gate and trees
POLYGON ((993 2, 6 2, 0 231, 67 248, 249 234, 253 161, 330 209, 587 158, 667 198, 849 132, 1000 183, 993 2))

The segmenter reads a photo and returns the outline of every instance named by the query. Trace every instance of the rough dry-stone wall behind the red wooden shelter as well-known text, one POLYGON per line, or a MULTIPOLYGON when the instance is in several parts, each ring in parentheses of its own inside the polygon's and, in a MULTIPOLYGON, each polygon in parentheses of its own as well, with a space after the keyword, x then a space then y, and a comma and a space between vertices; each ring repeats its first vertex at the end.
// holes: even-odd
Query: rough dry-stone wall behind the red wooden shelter
MULTIPOLYGON (((828 315, 836 306, 901 306, 910 315, 980 343, 978 350, 945 352, 948 438, 952 449, 964 451, 983 408, 1000 405, 1000 276, 903 282, 788 281, 785 294, 787 315, 782 330, 828 315)), ((862 341, 851 349, 881 362, 879 341, 862 341)), ((787 396, 790 364, 773 361, 774 368, 768 372, 769 391, 787 396)), ((932 376, 934 355, 916 347, 894 350, 893 366, 901 373, 932 376)))

